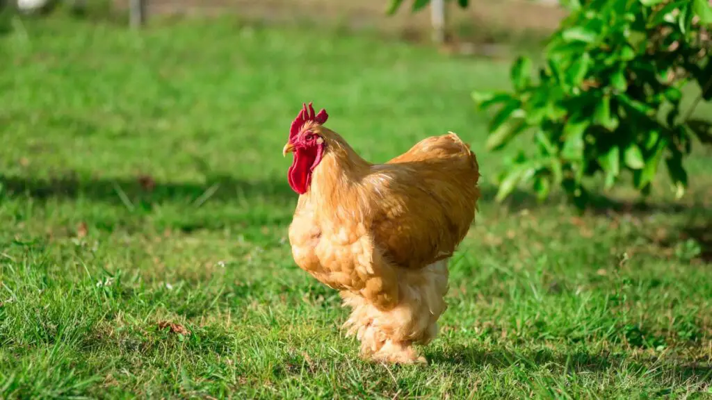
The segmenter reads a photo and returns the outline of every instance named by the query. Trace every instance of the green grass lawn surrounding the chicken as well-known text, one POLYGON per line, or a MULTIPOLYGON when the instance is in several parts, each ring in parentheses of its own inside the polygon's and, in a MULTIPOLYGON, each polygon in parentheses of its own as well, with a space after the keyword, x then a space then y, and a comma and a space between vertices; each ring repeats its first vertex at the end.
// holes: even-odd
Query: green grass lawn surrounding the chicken
POLYGON ((469 93, 506 86, 503 63, 229 20, 48 19, 0 46, 1 398, 711 396, 703 151, 680 203, 661 176, 646 209, 498 205, 469 93), (428 367, 360 361, 291 259, 280 153, 309 100, 375 162, 447 130, 478 153, 428 367))

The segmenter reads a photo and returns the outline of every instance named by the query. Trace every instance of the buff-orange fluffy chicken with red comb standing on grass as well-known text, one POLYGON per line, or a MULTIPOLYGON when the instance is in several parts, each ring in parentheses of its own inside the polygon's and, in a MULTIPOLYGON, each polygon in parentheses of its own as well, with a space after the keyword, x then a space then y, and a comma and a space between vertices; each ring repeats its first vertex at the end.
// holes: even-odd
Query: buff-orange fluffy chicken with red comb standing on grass
POLYGON ((446 309, 447 262, 480 196, 475 154, 449 132, 371 164, 327 119, 303 105, 283 148, 293 152, 288 181, 300 195, 289 226, 295 263, 340 291, 363 358, 426 362, 414 344, 436 337, 446 309))

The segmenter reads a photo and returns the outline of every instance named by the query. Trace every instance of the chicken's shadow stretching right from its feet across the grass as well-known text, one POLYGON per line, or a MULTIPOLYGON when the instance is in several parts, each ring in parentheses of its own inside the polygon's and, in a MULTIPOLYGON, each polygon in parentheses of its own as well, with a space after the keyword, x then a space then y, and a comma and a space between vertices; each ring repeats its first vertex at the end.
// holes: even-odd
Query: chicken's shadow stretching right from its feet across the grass
POLYGON ((450 364, 462 367, 490 366, 493 369, 506 369, 518 366, 523 369, 551 370, 566 369, 572 372, 609 372, 628 369, 631 372, 655 371, 656 374, 668 374, 678 383, 689 380, 698 382, 712 379, 712 364, 697 362, 668 362, 664 359, 626 357, 622 354, 590 354, 573 352, 557 355, 549 350, 518 353, 504 349, 487 351, 478 347, 454 347, 445 352, 429 355, 434 364, 450 364))

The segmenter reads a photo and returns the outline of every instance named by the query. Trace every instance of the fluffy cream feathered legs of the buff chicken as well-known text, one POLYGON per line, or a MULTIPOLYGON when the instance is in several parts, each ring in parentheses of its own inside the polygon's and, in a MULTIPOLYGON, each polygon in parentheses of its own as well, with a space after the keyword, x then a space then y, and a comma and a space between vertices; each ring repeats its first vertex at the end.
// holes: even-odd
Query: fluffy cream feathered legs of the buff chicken
POLYGON ((379 310, 362 296, 342 292, 344 304, 352 308, 344 327, 356 335, 361 354, 381 362, 424 363, 414 344, 428 344, 438 331, 437 320, 447 305, 447 260, 422 270, 399 270, 399 302, 389 310, 379 310))

